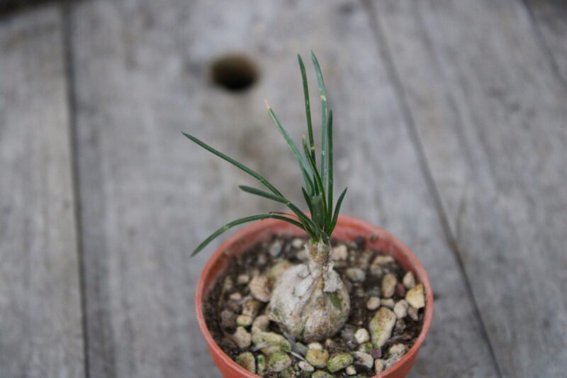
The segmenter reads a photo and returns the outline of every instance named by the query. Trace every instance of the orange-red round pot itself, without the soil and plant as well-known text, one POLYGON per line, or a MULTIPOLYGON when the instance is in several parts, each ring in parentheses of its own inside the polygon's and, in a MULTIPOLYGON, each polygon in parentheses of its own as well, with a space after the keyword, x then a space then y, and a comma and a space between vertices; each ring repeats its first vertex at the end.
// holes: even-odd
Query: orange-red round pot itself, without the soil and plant
MULTIPOLYGON (((211 336, 208 331, 203 317, 203 300, 205 299, 208 291, 215 284, 215 280, 227 267, 232 255, 240 255, 241 253, 246 252, 253 245, 269 240, 271 235, 274 234, 294 236, 305 235, 303 230, 283 221, 267 219, 265 221, 252 223, 251 226, 243 228, 228 238, 225 243, 220 245, 218 250, 215 251, 206 263, 203 268, 203 272, 201 272, 201 277, 199 277, 195 299, 198 323, 203 335, 205 335, 210 355, 213 357, 213 360, 215 361, 218 369, 220 369, 220 372, 222 372, 227 378, 249 378, 259 376, 252 374, 237 365, 237 363, 228 357, 228 355, 225 355, 225 352, 223 352, 217 343, 215 343, 213 336, 211 336)), ((332 236, 338 240, 354 240, 359 236, 365 238, 366 245, 369 248, 381 250, 383 253, 394 257, 398 264, 400 264, 404 269, 410 270, 415 274, 417 282, 421 282, 424 285, 427 304, 425 306, 425 319, 420 336, 417 338, 412 348, 400 361, 386 369, 386 371, 375 376, 381 378, 405 377, 415 364, 417 352, 419 352, 420 346, 425 339, 425 335, 427 335, 427 331, 430 329, 433 315, 433 293, 431 290, 430 279, 427 277, 425 269, 423 269, 421 262, 417 260, 417 257, 415 257, 413 252, 401 243, 400 240, 394 238, 393 235, 387 233, 382 228, 372 226, 371 224, 360 221, 357 218, 339 216, 337 228, 335 228, 332 236)))

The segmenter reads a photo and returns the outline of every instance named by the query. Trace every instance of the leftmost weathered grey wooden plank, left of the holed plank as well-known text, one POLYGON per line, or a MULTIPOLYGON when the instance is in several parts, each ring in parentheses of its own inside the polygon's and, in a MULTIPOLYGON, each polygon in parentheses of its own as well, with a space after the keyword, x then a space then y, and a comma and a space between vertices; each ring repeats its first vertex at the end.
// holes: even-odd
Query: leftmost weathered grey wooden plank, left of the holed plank
POLYGON ((84 375, 62 21, 0 23, 0 375, 84 375))

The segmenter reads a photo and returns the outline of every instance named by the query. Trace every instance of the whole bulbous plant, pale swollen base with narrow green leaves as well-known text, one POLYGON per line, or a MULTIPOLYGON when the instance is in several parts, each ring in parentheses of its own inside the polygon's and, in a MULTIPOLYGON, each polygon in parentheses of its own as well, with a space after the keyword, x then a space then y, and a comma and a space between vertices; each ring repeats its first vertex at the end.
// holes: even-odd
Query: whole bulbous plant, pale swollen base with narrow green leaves
POLYGON ((275 218, 293 224, 305 230, 310 237, 309 243, 305 245, 308 252, 308 262, 295 265, 286 269, 279 277, 271 292, 268 306, 269 318, 279 323, 281 328, 290 333, 298 340, 312 342, 328 338, 344 325, 347 321, 350 300, 347 289, 344 287, 339 274, 335 272, 330 261, 330 236, 337 225, 339 210, 347 193, 344 189, 333 209, 333 146, 332 146, 332 110, 327 108, 327 92, 315 54, 311 52, 311 58, 317 75, 319 94, 321 99, 322 124, 321 124, 321 154, 320 169, 317 166, 315 153, 315 140, 313 138, 313 126, 311 121, 311 110, 309 101, 309 89, 305 65, 301 56, 298 55, 301 78, 303 80, 303 94, 305 96, 305 113, 307 116, 308 139, 303 135, 303 155, 296 143, 293 142, 286 129, 283 128, 276 114, 269 105, 266 106, 285 138, 293 156, 296 157, 305 187, 301 188, 305 204, 310 213, 304 213, 298 206, 286 199, 281 192, 268 182, 262 175, 254 172, 249 167, 242 165, 237 160, 215 150, 201 140, 184 133, 194 143, 212 152, 218 157, 230 162, 232 165, 242 169, 259 182, 269 191, 256 189, 241 185, 240 189, 250 194, 262 196, 266 199, 284 204, 292 213, 263 213, 255 216, 247 216, 237 219, 216 230, 193 251, 193 255, 213 239, 224 233, 229 228, 266 218, 275 218))

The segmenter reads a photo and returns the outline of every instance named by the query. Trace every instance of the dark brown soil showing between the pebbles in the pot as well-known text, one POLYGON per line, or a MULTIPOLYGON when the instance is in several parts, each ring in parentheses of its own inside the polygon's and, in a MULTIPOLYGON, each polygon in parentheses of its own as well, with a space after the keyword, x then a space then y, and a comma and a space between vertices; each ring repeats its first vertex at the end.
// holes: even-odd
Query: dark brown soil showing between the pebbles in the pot
MULTIPOLYGON (((264 274, 271 266, 276 262, 281 260, 288 260, 292 264, 300 264, 305 262, 304 260, 298 259, 298 252, 303 249, 294 248, 292 245, 293 240, 296 237, 284 237, 280 235, 272 235, 271 240, 264 243, 258 243, 254 247, 250 248, 240 256, 232 257, 232 261, 229 262, 227 269, 215 282, 213 289, 206 295, 206 299, 203 301, 203 313, 205 316, 205 321, 213 336, 214 340, 220 348, 232 358, 235 359, 237 355, 242 352, 252 352, 254 357, 261 354, 259 350, 254 351, 254 345, 250 345, 249 348, 241 350, 232 340, 231 335, 235 333, 236 326, 228 326, 223 328, 220 313, 222 311, 231 311, 237 316, 242 311, 242 303, 249 297, 250 292, 248 289, 248 284, 238 284, 238 277, 241 274, 247 274, 250 278, 257 274, 264 274), (276 257, 272 257, 269 253, 269 247, 279 240, 281 243, 281 252, 276 257), (230 282, 230 284, 228 284, 230 282), (230 299, 231 294, 240 293, 242 299, 230 299)), ((303 239, 306 243, 307 239, 303 239)), ((355 242, 340 242, 338 240, 331 240, 331 245, 334 247, 341 244, 346 244, 349 250, 349 257, 346 261, 335 262, 335 271, 339 273, 343 283, 347 287, 350 296, 351 309, 349 313, 349 318, 345 326, 340 330, 332 339, 321 340, 320 343, 323 348, 332 353, 336 352, 354 352, 358 350, 359 343, 352 337, 353 333, 358 328, 366 328, 368 330, 369 322, 371 318, 376 313, 375 310, 369 310, 366 308, 366 301, 368 301, 371 296, 381 296, 381 277, 376 277, 369 274, 368 267, 374 261, 378 255, 383 255, 379 250, 371 250, 366 248, 366 241, 364 238, 357 238, 355 242), (347 279, 346 270, 349 267, 359 267, 366 272, 366 279, 364 282, 351 282, 347 279)), ((303 244, 303 243, 302 243, 303 244)), ((405 297, 405 288, 401 284, 404 274, 406 273, 397 263, 389 262, 386 265, 381 265, 383 272, 395 274, 398 278, 398 287, 392 296, 392 299, 397 303, 405 297)), ((258 314, 264 313, 264 309, 267 304, 262 303, 258 314)), ((415 340, 420 335, 423 326, 423 309, 419 310, 419 315, 417 321, 413 320, 410 316, 405 316, 403 318, 405 322, 405 327, 403 329, 394 328, 390 340, 386 342, 381 348, 374 348, 369 352, 374 359, 385 358, 388 348, 393 344, 401 343, 407 347, 409 350, 415 343, 415 340)), ((249 330, 249 328, 248 328, 249 330)), ((277 323, 270 322, 269 330, 274 331, 279 334, 283 334, 279 329, 277 323)), ((289 354, 292 360, 292 367, 296 366, 297 362, 300 360, 293 354, 289 354)), ((296 373, 296 377, 310 377, 312 373, 299 372, 296 373)), ((371 369, 366 369, 357 365, 357 375, 355 377, 372 377, 376 373, 374 372, 374 366, 371 369)), ((349 376, 344 369, 336 372, 335 377, 352 377, 349 376)), ((263 377, 281 377, 280 373, 266 373, 263 377)))

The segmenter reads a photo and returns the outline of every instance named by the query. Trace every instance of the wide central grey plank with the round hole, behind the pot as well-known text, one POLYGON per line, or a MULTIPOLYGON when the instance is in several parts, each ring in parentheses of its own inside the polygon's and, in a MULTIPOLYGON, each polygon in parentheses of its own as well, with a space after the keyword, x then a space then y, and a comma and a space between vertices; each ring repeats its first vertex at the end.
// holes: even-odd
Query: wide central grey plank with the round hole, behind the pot
POLYGON ((309 48, 320 56, 336 110, 337 187, 350 187, 345 213, 405 240, 437 290, 415 373, 495 374, 369 26, 357 1, 74 6, 92 377, 218 376, 193 308, 208 256, 189 259, 189 252, 230 218, 274 207, 237 193, 250 179, 179 131, 242 159, 301 200, 301 176, 263 103, 267 97, 296 138, 305 133, 296 52, 308 58, 309 48), (257 62, 261 77, 249 91, 210 84, 208 65, 227 51, 257 62))

